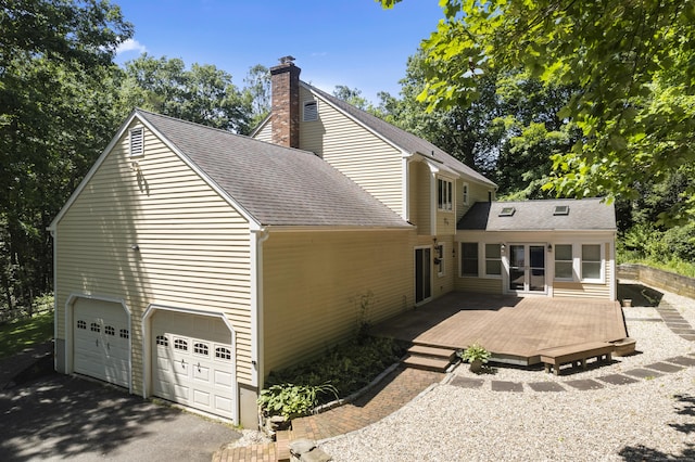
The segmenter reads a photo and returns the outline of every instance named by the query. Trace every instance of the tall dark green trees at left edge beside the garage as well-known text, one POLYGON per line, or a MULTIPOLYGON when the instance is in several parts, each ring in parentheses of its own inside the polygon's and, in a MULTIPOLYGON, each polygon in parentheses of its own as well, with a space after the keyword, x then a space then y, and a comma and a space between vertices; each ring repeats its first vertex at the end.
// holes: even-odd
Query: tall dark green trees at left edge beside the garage
POLYGON ((117 7, 8 0, 0 9, 0 283, 28 307, 52 282, 46 228, 115 129, 117 7))

